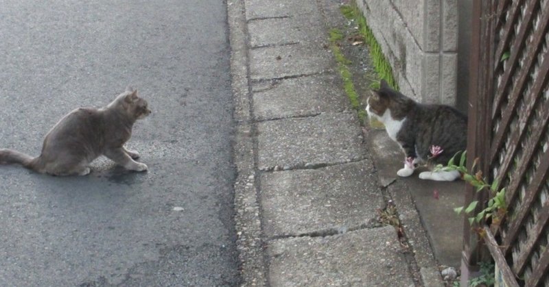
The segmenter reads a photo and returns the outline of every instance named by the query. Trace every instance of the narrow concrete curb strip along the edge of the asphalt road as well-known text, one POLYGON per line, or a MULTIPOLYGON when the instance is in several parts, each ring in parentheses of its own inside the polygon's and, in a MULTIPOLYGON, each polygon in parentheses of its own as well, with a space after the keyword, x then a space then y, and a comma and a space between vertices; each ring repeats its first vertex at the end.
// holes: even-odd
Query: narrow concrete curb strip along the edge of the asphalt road
POLYGON ((244 1, 227 1, 234 118, 237 122, 233 143, 235 180, 235 224, 242 286, 265 286, 266 267, 261 240, 257 201, 257 180, 250 125, 250 86, 248 85, 248 46, 244 1))

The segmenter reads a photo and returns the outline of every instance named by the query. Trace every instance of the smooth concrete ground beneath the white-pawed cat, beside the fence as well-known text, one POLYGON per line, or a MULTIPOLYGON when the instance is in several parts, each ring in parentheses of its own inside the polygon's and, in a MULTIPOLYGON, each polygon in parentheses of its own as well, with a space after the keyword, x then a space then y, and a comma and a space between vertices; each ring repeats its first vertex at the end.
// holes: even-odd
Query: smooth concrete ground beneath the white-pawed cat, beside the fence
MULTIPOLYGON (((411 201, 403 201, 399 210, 406 210, 412 203, 417 209, 409 217, 421 218, 432 245, 434 257, 443 265, 458 268, 461 260, 463 240, 463 217, 454 212, 454 208, 463 205, 465 182, 432 182, 417 177, 419 170, 410 177, 398 177, 397 170, 404 165, 404 156, 398 145, 391 140, 384 130, 373 130, 366 136, 371 147, 373 160, 376 163, 380 182, 386 184, 395 180, 398 185, 390 187, 398 195, 408 193, 411 201), (434 190, 439 198, 434 197, 434 190)), ((395 198, 395 197, 393 197, 395 198)), ((422 240, 419 240, 421 242, 422 240)), ((425 260, 425 262, 430 262, 425 260)))

